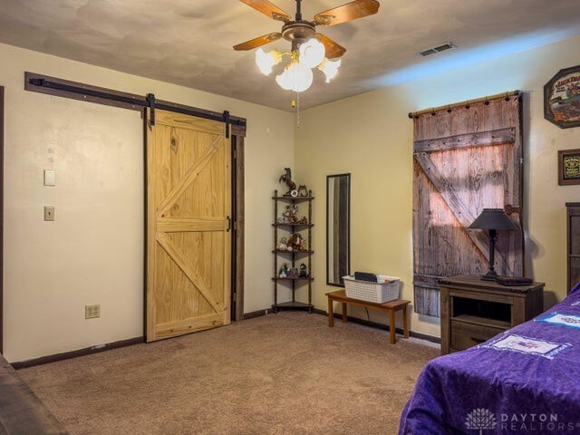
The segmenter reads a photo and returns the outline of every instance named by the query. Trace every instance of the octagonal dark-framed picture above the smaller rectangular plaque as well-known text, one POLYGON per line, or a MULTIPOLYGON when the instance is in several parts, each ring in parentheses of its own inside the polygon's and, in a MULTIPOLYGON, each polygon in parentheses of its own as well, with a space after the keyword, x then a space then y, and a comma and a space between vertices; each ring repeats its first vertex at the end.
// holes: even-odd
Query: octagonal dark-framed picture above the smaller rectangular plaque
POLYGON ((561 129, 580 126, 580 65, 558 71, 546 83, 544 118, 561 129))

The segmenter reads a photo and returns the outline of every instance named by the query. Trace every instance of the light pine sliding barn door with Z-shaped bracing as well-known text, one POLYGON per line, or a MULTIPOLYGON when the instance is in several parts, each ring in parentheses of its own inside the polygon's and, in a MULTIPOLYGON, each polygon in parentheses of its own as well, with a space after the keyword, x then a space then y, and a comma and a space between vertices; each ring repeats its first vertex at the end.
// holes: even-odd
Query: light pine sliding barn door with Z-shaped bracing
POLYGON ((147 140, 147 341, 230 322, 225 124, 155 111, 147 140))

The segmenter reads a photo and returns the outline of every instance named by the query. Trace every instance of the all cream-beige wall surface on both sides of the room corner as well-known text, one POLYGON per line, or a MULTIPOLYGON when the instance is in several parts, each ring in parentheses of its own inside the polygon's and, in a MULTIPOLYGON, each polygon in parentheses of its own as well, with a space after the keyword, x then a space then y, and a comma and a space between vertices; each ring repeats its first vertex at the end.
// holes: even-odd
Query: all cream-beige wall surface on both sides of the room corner
MULTIPOLYGON (((314 304, 325 309, 325 176, 352 175, 352 269, 401 276, 412 299, 412 122, 407 112, 506 90, 526 92, 527 252, 548 303, 565 295, 565 201, 556 150, 580 129, 543 119, 542 88, 580 63, 580 38, 290 113, 0 44, 5 86, 5 356, 23 361, 142 333, 142 150, 139 114, 24 92, 24 71, 228 110, 248 121, 245 311, 272 303, 272 190, 285 166, 314 190, 314 304), (294 155, 293 155, 294 149, 294 155), (295 162, 295 165, 293 164, 295 162), (43 187, 43 169, 57 186, 43 187), (56 221, 43 222, 43 206, 56 221), (84 320, 85 304, 102 304, 84 320)), ((305 296, 304 290, 298 293, 305 296)), ((284 296, 283 296, 284 297, 284 296)), ((354 312, 364 316, 363 312, 354 312)), ((384 322, 380 314, 371 319, 384 322)), ((439 321, 411 318, 439 335, 439 321)))

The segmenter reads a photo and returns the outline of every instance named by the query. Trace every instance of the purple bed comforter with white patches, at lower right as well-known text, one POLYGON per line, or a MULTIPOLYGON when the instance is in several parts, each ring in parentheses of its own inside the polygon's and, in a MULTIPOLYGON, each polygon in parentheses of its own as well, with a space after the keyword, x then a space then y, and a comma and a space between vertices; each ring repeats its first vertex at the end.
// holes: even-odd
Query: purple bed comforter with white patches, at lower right
POLYGON ((399 435, 580 434, 579 288, 534 320, 430 361, 399 435))

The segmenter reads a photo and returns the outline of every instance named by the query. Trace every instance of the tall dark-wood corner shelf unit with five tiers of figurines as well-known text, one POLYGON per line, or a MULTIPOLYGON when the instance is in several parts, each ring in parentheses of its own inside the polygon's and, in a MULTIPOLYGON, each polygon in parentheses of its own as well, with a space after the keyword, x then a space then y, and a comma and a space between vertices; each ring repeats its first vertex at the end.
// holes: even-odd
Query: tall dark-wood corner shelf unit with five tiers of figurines
MULTIPOLYGON (((289 197, 289 196, 278 196, 278 191, 274 191, 274 196, 272 197, 274 200, 274 223, 272 227, 274 227, 274 249, 272 249, 272 254, 274 254, 274 275, 272 276, 272 281, 274 282, 274 304, 272 305, 272 309, 274 313, 277 313, 280 310, 307 310, 308 313, 312 313, 314 305, 312 304, 312 282, 314 278, 312 277, 312 255, 314 251, 312 250, 312 227, 314 224, 312 223, 312 201, 314 197, 312 196, 312 190, 308 190, 307 197, 289 197), (299 223, 282 223, 278 222, 278 203, 288 203, 288 204, 300 204, 300 203, 307 203, 308 204, 308 215, 307 215, 307 223, 299 224, 299 223), (305 238, 306 240, 306 247, 307 250, 305 251, 287 251, 283 249, 278 249, 278 231, 283 230, 288 233, 289 237, 292 237, 295 233, 300 231, 306 231, 307 235, 305 238), (307 256, 307 271, 308 277, 285 277, 281 278, 278 276, 278 256, 285 257, 286 261, 282 263, 290 263, 292 266, 295 267, 296 265, 296 257, 304 258, 307 256), (278 284, 281 282, 290 283, 291 290, 292 290, 292 301, 289 302, 282 302, 278 303, 278 284), (295 299, 296 288, 300 285, 308 285, 308 302, 298 302, 295 299)), ((305 259, 305 258, 304 258, 305 259)))

